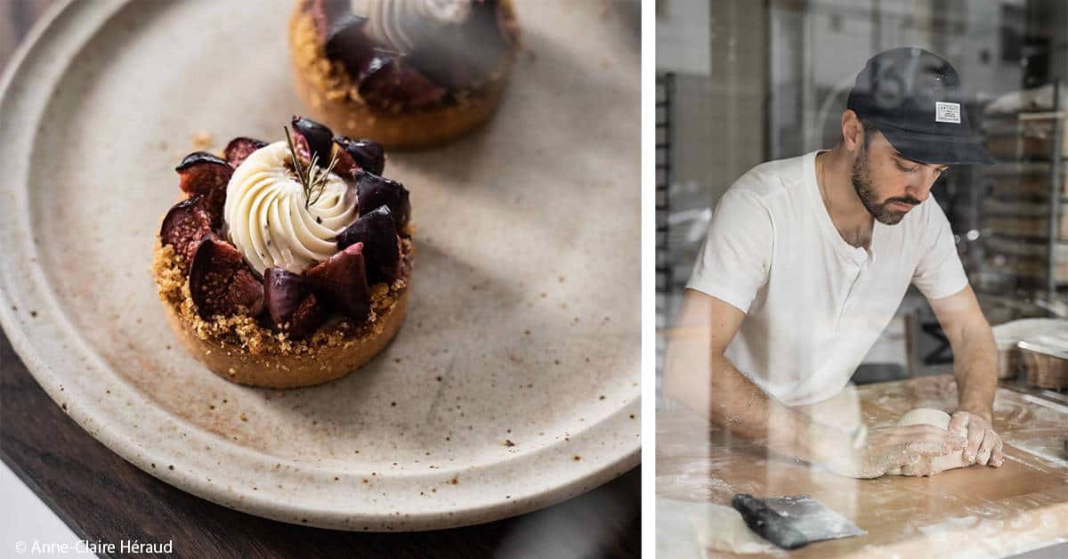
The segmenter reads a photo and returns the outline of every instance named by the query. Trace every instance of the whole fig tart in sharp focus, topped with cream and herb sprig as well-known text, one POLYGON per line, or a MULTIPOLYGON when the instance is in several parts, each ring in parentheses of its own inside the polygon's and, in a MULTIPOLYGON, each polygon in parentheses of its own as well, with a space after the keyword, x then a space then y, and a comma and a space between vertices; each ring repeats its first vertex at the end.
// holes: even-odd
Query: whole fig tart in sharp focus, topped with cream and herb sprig
POLYGON ((235 383, 288 388, 344 376, 404 321, 408 190, 371 140, 294 117, 268 143, 236 138, 175 169, 153 275, 178 340, 235 383))

